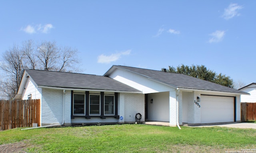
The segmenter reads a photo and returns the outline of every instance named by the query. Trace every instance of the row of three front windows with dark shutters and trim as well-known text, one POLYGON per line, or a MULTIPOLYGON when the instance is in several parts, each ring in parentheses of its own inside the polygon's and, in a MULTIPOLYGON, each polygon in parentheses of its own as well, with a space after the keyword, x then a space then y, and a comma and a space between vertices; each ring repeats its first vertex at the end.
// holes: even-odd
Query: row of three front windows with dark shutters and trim
POLYGON ((119 118, 118 93, 71 91, 71 112, 72 119, 75 117, 119 118))

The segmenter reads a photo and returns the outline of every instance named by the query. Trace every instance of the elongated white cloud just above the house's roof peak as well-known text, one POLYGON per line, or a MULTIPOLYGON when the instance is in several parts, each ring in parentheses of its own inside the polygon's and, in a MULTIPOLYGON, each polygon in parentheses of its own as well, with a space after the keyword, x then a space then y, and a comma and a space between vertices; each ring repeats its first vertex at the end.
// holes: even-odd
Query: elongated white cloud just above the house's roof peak
POLYGON ((109 56, 101 54, 100 56, 98 56, 98 63, 108 64, 110 62, 117 61, 118 59, 121 58, 121 56, 129 55, 130 52, 131 52, 131 50, 126 50, 126 51, 123 51, 123 52, 118 52, 118 53, 115 53, 115 54, 111 54, 109 56))

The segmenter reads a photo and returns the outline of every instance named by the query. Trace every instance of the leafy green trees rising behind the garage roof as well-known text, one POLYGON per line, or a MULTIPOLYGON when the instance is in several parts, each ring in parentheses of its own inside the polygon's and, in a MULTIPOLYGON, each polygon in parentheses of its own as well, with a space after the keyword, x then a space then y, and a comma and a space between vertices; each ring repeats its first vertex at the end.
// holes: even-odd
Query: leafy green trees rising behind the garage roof
POLYGON ((196 77, 227 87, 234 87, 233 80, 229 76, 225 76, 224 74, 216 74, 216 72, 208 70, 204 65, 185 66, 182 64, 181 66, 177 66, 177 68, 174 68, 174 66, 169 66, 168 69, 162 68, 162 71, 164 70, 170 73, 185 74, 187 76, 196 77))

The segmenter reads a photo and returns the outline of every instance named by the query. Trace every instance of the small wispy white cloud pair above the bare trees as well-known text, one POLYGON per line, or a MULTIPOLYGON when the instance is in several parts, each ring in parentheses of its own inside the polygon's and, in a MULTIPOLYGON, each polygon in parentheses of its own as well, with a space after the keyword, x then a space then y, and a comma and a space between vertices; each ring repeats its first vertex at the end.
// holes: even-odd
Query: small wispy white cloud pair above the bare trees
POLYGON ((21 28, 21 30, 28 33, 28 34, 34 34, 34 33, 37 33, 37 32, 46 34, 52 28, 53 28, 52 24, 45 24, 43 26, 41 24, 38 24, 36 26, 28 25, 28 26, 26 26, 26 28, 21 28))

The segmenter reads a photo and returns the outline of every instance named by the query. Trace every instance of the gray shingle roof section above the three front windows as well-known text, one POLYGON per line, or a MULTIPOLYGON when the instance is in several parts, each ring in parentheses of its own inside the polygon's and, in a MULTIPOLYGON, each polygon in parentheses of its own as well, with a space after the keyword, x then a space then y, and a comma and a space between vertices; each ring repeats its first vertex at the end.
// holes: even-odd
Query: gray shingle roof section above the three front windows
POLYGON ((38 86, 63 87, 74 89, 96 89, 108 91, 141 92, 124 83, 106 76, 25 70, 38 86))

